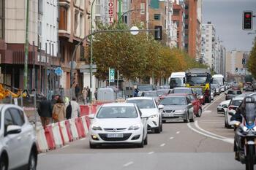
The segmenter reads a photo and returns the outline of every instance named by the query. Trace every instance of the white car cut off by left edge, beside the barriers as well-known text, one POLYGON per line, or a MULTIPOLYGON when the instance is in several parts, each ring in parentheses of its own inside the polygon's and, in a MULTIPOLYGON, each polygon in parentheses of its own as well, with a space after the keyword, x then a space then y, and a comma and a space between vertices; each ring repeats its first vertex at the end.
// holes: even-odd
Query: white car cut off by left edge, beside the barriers
POLYGON ((0 105, 0 169, 37 169, 37 142, 23 109, 0 105))

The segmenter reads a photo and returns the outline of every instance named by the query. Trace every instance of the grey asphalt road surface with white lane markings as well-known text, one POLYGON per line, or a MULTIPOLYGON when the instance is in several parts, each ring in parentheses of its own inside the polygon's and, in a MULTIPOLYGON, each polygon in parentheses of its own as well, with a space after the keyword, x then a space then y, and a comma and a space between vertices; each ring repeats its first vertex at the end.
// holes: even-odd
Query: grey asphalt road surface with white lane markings
POLYGON ((224 127, 217 104, 224 95, 203 106, 195 123, 165 123, 161 134, 148 134, 144 148, 112 146, 89 148, 88 139, 39 155, 39 170, 240 170, 234 160, 233 129, 224 127))

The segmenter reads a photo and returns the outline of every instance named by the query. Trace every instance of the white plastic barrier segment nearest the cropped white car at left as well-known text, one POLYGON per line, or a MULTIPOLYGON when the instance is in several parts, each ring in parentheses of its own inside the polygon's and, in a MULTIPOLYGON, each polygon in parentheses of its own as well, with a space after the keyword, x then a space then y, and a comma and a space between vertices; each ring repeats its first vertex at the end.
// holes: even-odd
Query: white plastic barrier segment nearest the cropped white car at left
POLYGON ((42 125, 37 125, 37 149, 39 152, 48 152, 48 144, 45 138, 45 130, 42 125))

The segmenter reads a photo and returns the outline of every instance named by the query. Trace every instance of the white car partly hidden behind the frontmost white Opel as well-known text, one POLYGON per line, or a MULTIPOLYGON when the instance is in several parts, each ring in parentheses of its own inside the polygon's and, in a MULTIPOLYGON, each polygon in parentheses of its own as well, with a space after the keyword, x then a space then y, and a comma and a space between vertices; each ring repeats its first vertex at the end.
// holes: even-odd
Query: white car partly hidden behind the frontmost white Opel
POLYGON ((128 98, 127 103, 134 103, 142 112, 143 117, 148 117, 148 130, 159 134, 162 131, 162 116, 157 107, 157 101, 152 97, 128 98))

